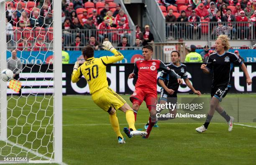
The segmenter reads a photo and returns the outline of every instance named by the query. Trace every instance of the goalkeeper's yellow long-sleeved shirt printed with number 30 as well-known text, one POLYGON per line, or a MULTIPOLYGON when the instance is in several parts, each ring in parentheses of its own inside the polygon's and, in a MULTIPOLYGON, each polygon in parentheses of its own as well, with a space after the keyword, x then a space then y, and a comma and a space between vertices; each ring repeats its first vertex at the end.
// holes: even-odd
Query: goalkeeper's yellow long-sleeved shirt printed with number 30
POLYGON ((78 69, 74 69, 71 80, 73 83, 79 81, 79 79, 84 75, 86 79, 90 94, 98 91, 104 87, 108 87, 106 66, 109 63, 115 63, 121 61, 124 56, 117 50, 113 50, 114 56, 103 56, 100 58, 87 58, 87 60, 79 66, 78 69))

